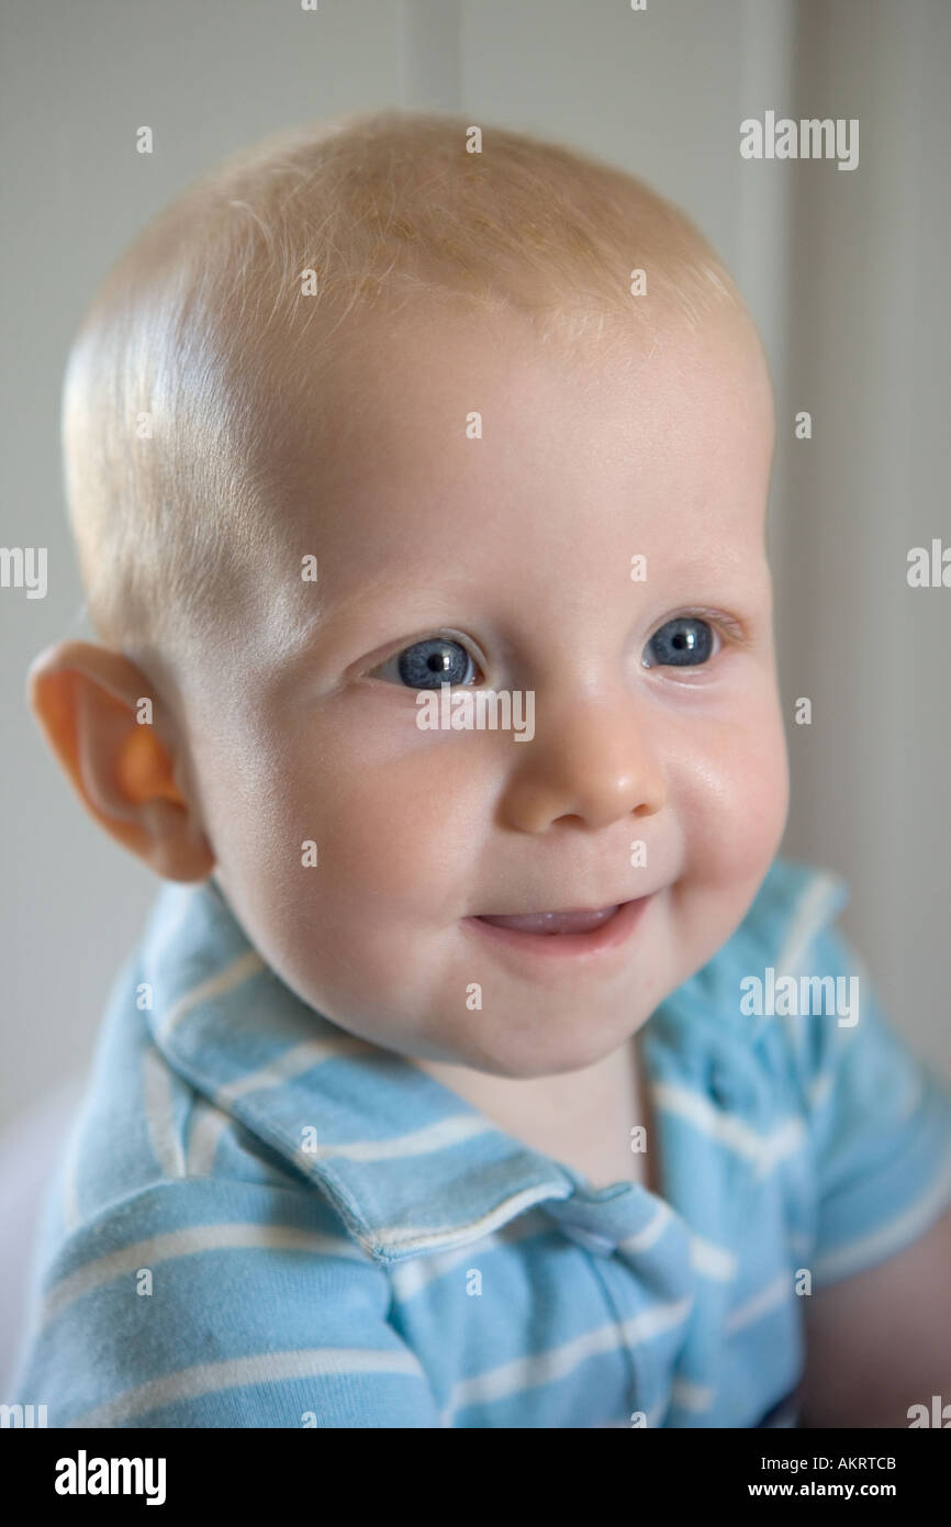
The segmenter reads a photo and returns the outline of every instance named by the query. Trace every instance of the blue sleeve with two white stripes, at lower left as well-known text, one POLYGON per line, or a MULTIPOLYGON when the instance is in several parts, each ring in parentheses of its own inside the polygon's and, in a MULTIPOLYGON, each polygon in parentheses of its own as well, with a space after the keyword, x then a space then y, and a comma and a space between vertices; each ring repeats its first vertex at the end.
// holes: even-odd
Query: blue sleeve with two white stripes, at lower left
POLYGON ((311 1193, 182 1179, 79 1226, 14 1403, 61 1428, 438 1426, 389 1280, 311 1193))

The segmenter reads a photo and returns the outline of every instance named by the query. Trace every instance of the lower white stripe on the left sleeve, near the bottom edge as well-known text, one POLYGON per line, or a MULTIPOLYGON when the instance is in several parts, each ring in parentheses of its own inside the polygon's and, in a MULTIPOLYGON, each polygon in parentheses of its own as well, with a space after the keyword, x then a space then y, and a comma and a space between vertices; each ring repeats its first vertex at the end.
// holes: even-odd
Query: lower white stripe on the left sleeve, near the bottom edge
POLYGON ((356 1347, 311 1347, 302 1351, 264 1351, 253 1358, 229 1358, 226 1362, 205 1362, 180 1368, 162 1379, 151 1379, 136 1390, 127 1390, 105 1405, 76 1416, 70 1426, 116 1426, 133 1416, 194 1400, 198 1394, 221 1394, 247 1383, 279 1383, 284 1379, 339 1377, 354 1373, 405 1373, 423 1377, 414 1354, 400 1351, 366 1351, 356 1347))

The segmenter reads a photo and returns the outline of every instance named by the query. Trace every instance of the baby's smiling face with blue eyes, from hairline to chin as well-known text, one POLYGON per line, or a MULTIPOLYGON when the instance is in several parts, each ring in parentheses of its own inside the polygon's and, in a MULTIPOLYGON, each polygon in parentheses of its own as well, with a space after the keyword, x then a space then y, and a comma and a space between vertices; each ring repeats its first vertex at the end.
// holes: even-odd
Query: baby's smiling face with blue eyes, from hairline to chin
POLYGON ((440 319, 351 350, 321 438, 298 406, 293 557, 186 698, 218 883, 353 1034, 594 1064, 730 938, 785 828, 759 351, 727 321, 621 363, 440 319), (524 738, 421 728, 440 683, 521 696, 524 738), (588 935, 478 921, 629 901, 588 935))

